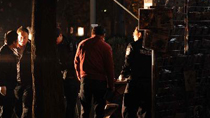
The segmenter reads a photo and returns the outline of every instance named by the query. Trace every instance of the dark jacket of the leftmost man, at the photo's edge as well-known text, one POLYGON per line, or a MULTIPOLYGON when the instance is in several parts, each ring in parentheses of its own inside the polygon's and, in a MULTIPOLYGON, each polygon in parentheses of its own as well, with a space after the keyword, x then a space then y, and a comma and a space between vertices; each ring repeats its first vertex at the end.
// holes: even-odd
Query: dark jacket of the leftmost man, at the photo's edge
POLYGON ((14 89, 17 84, 18 56, 7 45, 0 49, 0 86, 14 89))

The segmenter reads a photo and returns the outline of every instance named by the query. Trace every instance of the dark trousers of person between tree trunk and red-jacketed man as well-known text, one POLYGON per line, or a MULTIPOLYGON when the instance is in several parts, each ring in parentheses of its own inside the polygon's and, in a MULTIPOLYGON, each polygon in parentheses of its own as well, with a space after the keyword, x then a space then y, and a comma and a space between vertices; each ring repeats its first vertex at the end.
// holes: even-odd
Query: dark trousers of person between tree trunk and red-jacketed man
POLYGON ((66 97, 66 118, 74 118, 79 93, 79 81, 76 78, 65 79, 64 92, 66 97))

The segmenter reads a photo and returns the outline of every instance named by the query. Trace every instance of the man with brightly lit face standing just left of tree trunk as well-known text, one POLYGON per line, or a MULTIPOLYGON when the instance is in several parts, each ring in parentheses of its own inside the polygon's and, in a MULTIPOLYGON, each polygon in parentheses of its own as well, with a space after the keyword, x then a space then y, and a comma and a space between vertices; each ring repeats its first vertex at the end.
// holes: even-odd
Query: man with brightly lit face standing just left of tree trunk
POLYGON ((19 118, 32 117, 32 74, 31 74, 31 44, 28 39, 29 31, 25 27, 17 29, 18 33, 18 54, 17 65, 17 86, 15 96, 17 98, 16 114, 19 118))

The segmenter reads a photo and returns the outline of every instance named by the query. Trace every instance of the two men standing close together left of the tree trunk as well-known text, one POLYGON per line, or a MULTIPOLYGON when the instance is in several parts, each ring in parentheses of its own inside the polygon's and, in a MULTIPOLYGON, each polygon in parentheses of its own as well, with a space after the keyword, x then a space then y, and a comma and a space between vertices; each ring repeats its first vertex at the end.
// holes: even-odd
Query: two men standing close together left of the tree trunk
POLYGON ((5 34, 0 49, 0 93, 2 118, 32 116, 31 45, 28 29, 20 27, 5 34))

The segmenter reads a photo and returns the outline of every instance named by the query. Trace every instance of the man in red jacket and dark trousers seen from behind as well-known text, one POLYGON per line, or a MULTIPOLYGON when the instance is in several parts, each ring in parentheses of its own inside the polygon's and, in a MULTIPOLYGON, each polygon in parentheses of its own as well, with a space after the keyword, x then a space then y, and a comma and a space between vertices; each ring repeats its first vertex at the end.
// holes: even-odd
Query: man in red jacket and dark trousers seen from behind
POLYGON ((89 118, 93 98, 94 117, 104 117, 104 99, 107 89, 114 91, 112 49, 104 41, 105 29, 96 26, 92 36, 81 41, 74 59, 77 78, 80 80, 81 118, 89 118))

